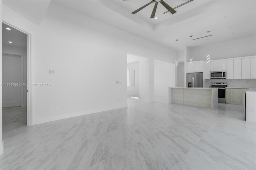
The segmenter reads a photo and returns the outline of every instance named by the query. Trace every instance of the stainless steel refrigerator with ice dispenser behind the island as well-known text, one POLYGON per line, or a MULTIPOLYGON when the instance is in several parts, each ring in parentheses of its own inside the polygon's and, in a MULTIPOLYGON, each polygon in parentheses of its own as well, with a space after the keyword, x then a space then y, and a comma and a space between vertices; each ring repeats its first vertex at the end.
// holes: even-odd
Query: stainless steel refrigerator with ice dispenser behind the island
POLYGON ((203 87, 203 73, 187 73, 187 87, 203 87))

